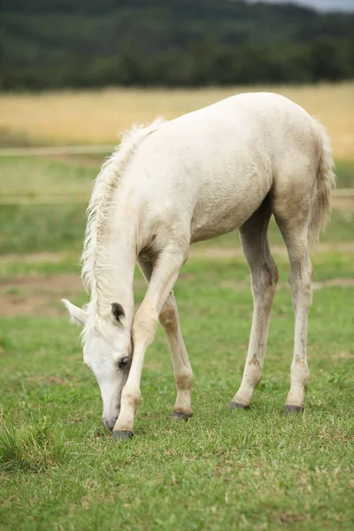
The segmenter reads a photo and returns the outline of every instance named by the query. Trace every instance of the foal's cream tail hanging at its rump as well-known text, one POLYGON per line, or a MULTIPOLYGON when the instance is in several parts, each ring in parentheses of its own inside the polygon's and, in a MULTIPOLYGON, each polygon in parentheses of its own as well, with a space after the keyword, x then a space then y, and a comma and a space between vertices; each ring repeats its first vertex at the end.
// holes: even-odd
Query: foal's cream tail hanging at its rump
POLYGON ((331 217, 332 189, 335 188, 335 163, 331 143, 325 127, 317 121, 315 123, 319 133, 320 157, 309 219, 309 236, 312 242, 318 241, 319 233, 325 231, 331 217))

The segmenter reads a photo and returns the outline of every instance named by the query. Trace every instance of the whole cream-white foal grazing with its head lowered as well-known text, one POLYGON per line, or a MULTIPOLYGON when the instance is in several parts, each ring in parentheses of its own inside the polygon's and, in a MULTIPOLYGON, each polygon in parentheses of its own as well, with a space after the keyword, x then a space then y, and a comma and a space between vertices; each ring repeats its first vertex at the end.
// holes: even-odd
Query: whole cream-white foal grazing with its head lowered
POLYGON ((326 226, 334 183, 324 130, 304 109, 275 94, 230 97, 123 138, 89 203, 82 279, 90 302, 81 310, 64 300, 84 327, 84 361, 96 375, 104 424, 115 437, 134 433, 143 360, 158 319, 173 359, 173 415, 190 417, 193 374, 173 284, 191 242, 237 228, 250 266, 254 312, 242 384, 231 407, 250 407, 262 378, 278 280, 267 240, 272 214, 289 250, 296 314, 286 412, 303 410, 312 304, 309 242, 326 226), (136 262, 149 286, 134 315, 136 262))

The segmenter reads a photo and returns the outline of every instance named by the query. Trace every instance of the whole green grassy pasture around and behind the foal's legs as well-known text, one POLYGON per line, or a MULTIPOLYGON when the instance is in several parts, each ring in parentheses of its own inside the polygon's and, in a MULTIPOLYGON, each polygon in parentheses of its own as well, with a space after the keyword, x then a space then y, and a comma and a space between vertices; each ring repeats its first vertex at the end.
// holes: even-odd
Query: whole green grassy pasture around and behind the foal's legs
MULTIPOLYGON (((304 415, 283 415, 294 317, 288 259, 273 224, 281 277, 251 410, 228 411, 242 378, 252 299, 238 237, 227 235, 192 247, 174 290, 195 373, 194 417, 169 418, 173 371, 159 328, 135 437, 122 444, 104 429, 79 330, 60 303, 63 296, 87 301, 78 266, 86 205, 40 197, 63 189, 88 196, 98 165, 96 158, 0 158, 2 199, 23 188, 39 197, 0 207, 0 528, 352 529, 352 204, 335 208, 313 257, 304 415)), ((350 188, 352 165, 338 169, 339 186, 350 188)), ((136 304, 143 294, 137 273, 136 304)))

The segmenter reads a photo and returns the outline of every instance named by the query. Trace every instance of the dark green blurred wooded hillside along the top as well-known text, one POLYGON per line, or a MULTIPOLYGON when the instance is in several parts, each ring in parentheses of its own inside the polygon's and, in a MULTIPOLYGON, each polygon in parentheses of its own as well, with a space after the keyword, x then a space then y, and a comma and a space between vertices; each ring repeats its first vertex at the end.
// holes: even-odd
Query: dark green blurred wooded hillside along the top
POLYGON ((0 89, 354 77, 354 15, 243 0, 4 0, 0 89))

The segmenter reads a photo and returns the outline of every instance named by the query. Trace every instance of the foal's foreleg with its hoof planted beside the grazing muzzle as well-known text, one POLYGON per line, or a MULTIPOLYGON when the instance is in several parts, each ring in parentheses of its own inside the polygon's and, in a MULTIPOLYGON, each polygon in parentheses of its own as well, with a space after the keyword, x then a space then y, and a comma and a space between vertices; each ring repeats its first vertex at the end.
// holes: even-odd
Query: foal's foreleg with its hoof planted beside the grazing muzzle
POLYGON ((127 439, 134 434, 135 412, 140 403, 140 381, 145 352, 153 342, 158 327, 158 316, 173 289, 187 252, 165 249, 155 262, 149 287, 133 323, 134 354, 127 383, 121 396, 119 418, 113 428, 113 438, 127 439))

